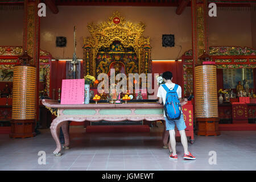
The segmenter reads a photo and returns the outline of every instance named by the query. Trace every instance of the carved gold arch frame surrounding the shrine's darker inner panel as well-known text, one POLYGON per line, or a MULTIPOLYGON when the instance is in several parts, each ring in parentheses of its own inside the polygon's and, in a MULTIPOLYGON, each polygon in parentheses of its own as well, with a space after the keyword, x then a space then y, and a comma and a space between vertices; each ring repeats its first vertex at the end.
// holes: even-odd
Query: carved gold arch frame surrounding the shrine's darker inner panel
MULTIPOLYGON (((116 11, 106 22, 100 24, 89 23, 87 27, 91 36, 84 38, 84 55, 86 56, 85 60, 90 61, 90 63, 86 65, 85 75, 90 74, 96 76, 96 55, 98 50, 101 47, 110 47, 115 40, 121 42, 123 47, 134 48, 138 57, 139 73, 148 73, 150 71, 150 63, 145 64, 144 62, 146 60, 143 60, 145 51, 150 53, 151 49, 149 46, 150 38, 142 36, 145 29, 144 23, 135 24, 128 22, 116 11), (116 22, 114 19, 119 20, 116 22), (91 70, 89 71, 89 69, 91 70)), ((147 61, 150 61, 150 56, 147 57, 147 61)), ((101 64, 102 66, 104 65, 104 63, 101 64)))

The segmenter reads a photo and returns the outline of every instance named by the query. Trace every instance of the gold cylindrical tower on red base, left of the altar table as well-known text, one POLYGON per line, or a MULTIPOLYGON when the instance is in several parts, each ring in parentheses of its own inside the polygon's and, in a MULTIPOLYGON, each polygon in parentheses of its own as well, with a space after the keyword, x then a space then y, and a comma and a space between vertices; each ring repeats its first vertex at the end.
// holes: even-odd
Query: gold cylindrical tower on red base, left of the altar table
POLYGON ((35 137, 36 68, 17 65, 13 75, 11 138, 35 137))

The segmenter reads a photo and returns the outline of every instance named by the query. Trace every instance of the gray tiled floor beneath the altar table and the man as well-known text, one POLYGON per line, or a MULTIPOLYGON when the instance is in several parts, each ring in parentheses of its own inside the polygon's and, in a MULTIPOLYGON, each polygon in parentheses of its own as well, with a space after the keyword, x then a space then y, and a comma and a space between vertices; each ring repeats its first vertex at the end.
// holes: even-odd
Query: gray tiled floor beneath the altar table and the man
MULTIPOLYGON (((50 131, 34 138, 11 139, 0 135, 0 170, 255 170, 256 131, 221 131, 217 137, 196 136, 189 151, 196 160, 183 160, 177 142, 178 160, 168 158, 162 148, 162 133, 85 133, 71 127, 71 149, 53 156, 55 142, 50 131), (46 152, 46 164, 38 164, 39 151, 46 152), (216 151, 216 164, 209 164, 209 152, 216 151)), ((210 160, 213 161, 213 160, 210 160)))

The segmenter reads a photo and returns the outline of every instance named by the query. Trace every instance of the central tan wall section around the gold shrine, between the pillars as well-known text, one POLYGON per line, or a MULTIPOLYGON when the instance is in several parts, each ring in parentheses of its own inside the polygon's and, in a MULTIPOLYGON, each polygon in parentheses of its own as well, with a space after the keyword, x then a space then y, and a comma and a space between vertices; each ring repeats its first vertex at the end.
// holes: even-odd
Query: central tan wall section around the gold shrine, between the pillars
MULTIPOLYGON (((42 49, 50 47, 56 57, 72 57, 73 26, 77 26, 77 56, 82 58, 83 36, 90 36, 87 24, 106 21, 114 11, 119 11, 126 20, 146 24, 144 36, 150 37, 152 59, 176 59, 180 47, 162 47, 163 34, 175 34, 176 45, 181 45, 184 52, 191 48, 192 32, 190 9, 181 16, 175 14, 170 7, 59 7, 57 15, 49 14, 42 19, 42 49), (53 23, 55 22, 55 23, 53 23), (56 48, 55 36, 67 36, 66 48, 56 48)), ((52 51, 51 51, 52 52, 52 51)))

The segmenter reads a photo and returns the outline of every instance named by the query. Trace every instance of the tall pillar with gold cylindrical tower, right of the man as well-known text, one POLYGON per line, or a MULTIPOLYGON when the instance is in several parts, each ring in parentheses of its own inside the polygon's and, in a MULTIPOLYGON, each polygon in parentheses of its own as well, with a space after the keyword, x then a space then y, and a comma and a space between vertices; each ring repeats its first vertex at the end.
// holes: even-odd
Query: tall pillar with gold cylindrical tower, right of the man
POLYGON ((205 64, 208 53, 208 1, 192 0, 193 80, 197 134, 218 135, 218 102, 216 65, 205 64))

